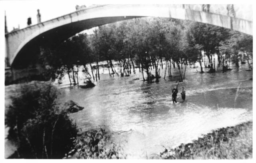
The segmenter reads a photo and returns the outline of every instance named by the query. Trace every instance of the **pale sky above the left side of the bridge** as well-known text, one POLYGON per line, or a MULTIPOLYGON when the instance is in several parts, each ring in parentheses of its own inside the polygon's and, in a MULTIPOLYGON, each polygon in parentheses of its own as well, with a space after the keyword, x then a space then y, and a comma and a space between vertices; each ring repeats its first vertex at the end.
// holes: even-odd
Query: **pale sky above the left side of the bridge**
MULTIPOLYGON (((7 28, 10 32, 14 28, 25 28, 27 18, 31 17, 32 24, 37 24, 37 9, 40 10, 41 21, 50 20, 58 16, 76 11, 76 5, 91 6, 85 0, 56 1, 56 0, 11 0, 4 1, 4 10, 6 12, 7 28)), ((93 2, 93 1, 90 1, 93 2)))

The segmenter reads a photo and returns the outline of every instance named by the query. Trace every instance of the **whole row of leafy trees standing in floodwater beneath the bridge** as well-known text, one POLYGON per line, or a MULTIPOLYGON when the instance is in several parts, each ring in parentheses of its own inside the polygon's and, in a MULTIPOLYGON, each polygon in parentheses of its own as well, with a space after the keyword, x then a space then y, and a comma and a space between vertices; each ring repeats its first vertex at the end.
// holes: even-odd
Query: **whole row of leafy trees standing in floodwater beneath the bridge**
POLYGON ((100 61, 107 62, 110 76, 129 76, 138 68, 144 81, 159 81, 164 64, 164 78, 167 70, 172 77, 171 66, 176 65, 182 81, 188 64, 199 62, 201 73, 202 64, 215 72, 215 55, 223 68, 230 60, 238 66, 242 58, 250 66, 252 37, 208 24, 139 18, 100 26, 90 36, 79 34, 54 48, 42 48, 41 54, 46 75, 54 80, 67 73, 70 84, 78 84, 80 66, 85 80, 100 80, 100 61))

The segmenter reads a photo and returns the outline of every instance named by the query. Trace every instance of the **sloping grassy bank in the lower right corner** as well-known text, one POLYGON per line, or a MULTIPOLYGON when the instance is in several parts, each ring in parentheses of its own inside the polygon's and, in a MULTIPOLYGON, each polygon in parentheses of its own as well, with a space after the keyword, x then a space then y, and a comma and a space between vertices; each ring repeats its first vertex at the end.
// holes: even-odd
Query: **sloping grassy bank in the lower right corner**
POLYGON ((172 149, 159 159, 252 159, 252 121, 212 131, 172 149))

